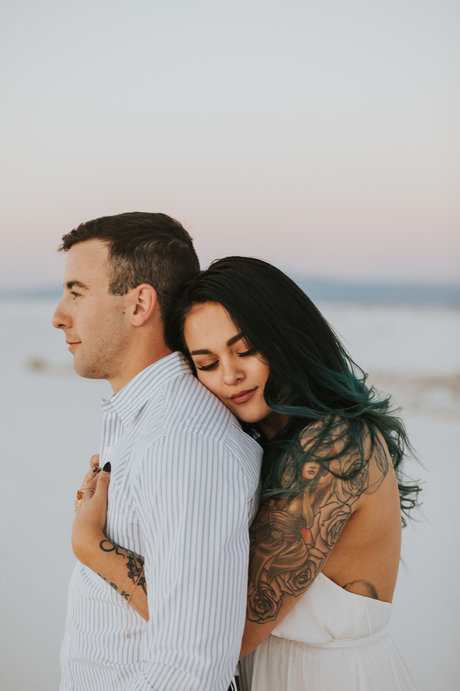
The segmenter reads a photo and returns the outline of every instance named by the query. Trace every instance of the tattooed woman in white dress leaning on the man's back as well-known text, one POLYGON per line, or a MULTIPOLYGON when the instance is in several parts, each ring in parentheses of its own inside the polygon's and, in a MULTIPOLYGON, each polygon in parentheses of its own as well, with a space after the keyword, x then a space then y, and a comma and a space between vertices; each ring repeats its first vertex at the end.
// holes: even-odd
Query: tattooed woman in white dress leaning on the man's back
MULTIPOLYGON (((243 688, 414 689, 385 632, 401 524, 419 491, 401 481, 410 447, 389 399, 366 386, 300 288, 254 258, 212 263, 183 287, 166 327, 264 448, 243 688)), ((148 618, 145 587, 132 606, 148 618)))

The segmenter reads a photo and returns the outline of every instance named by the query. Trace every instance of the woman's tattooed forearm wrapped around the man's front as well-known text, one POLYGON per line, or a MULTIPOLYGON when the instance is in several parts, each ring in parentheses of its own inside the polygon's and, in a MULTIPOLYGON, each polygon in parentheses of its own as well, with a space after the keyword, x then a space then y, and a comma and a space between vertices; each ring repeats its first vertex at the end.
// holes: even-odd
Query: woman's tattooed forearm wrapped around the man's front
POLYGON ((148 621, 146 578, 143 574, 143 558, 139 554, 115 545, 103 533, 99 533, 77 557, 116 590, 123 600, 129 598, 133 609, 148 621))

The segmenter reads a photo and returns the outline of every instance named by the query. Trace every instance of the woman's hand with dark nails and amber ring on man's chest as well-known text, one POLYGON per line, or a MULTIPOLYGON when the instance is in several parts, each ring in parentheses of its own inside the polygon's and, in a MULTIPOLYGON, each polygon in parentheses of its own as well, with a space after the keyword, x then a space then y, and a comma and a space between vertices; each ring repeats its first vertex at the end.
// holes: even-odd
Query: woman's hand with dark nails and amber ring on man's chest
POLYGON ((83 497, 75 502, 72 549, 77 559, 83 564, 104 537, 110 463, 106 463, 104 468, 106 468, 105 471, 99 468, 98 455, 91 457, 90 470, 86 473, 80 487, 83 497))

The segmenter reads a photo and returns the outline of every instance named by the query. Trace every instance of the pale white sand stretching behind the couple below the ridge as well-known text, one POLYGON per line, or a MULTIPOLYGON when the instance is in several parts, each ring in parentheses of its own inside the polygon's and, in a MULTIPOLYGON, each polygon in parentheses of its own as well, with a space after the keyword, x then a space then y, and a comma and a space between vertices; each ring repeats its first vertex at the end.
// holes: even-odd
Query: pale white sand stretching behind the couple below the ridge
MULTIPOLYGON (((454 691, 459 678, 457 525, 460 466, 460 314, 421 308, 320 305, 371 381, 405 406, 426 468, 426 519, 404 531, 390 623, 419 691, 454 691)), ((59 648, 75 490, 99 451, 105 381, 77 377, 54 304, 0 303, 2 688, 50 691, 59 648)))

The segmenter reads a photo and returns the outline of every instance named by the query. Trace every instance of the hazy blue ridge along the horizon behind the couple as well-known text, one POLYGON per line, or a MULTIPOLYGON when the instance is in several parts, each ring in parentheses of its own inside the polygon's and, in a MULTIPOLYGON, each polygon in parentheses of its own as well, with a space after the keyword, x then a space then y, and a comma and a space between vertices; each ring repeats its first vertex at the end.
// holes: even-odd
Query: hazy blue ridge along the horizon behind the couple
MULTIPOLYGON (((460 307, 460 285, 427 283, 371 283, 328 281, 325 278, 291 276, 314 302, 361 305, 439 305, 460 307)), ((0 290, 0 300, 59 299, 62 288, 43 286, 28 290, 0 290)))

